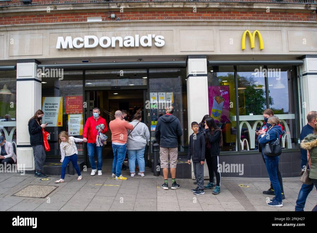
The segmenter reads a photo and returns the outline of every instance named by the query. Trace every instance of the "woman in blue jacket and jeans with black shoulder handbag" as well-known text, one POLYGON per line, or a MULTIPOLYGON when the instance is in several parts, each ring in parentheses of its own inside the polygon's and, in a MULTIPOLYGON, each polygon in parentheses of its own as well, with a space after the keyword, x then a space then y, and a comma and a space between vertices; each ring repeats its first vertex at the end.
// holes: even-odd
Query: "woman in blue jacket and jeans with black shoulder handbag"
MULTIPOLYGON (((262 146, 259 148, 264 149, 264 146, 266 143, 272 143, 276 139, 280 140, 282 130, 281 130, 281 126, 278 125, 279 123, 280 123, 280 120, 278 119, 277 116, 270 116, 268 118, 268 121, 266 123, 268 130, 266 131, 265 134, 259 135, 258 137, 259 143, 262 144, 262 146)), ((266 169, 268 171, 268 176, 270 178, 270 182, 273 185, 274 193, 275 193, 275 197, 273 197, 273 199, 270 200, 270 203, 268 203, 268 206, 282 207, 283 203, 282 203, 281 185, 277 176, 279 156, 267 156, 263 153, 263 150, 262 150, 262 154, 264 156, 266 169)))

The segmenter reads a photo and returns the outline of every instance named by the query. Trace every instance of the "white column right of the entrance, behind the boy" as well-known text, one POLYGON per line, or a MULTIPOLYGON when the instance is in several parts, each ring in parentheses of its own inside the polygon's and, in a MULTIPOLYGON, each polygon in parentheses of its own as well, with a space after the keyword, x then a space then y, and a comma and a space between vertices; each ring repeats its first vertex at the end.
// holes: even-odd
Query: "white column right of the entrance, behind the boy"
MULTIPOLYGON (((198 123, 204 115, 209 114, 208 109, 208 80, 207 80, 207 58, 205 55, 189 55, 187 58, 187 105, 188 105, 188 134, 193 133, 191 122, 198 123)), ((194 171, 191 166, 192 178, 194 171)), ((208 168, 205 163, 204 176, 208 177, 208 168)))

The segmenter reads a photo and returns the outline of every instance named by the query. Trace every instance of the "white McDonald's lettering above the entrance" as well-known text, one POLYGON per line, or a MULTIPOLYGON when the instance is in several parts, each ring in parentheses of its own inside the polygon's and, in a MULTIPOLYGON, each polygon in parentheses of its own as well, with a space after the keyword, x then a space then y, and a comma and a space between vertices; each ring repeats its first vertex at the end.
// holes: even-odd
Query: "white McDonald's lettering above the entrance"
POLYGON ((147 36, 141 36, 136 34, 133 36, 122 37, 101 37, 96 36, 84 36, 84 38, 71 36, 58 37, 56 43, 56 49, 81 49, 81 48, 96 48, 100 45, 102 48, 116 47, 116 42, 119 43, 119 48, 122 47, 152 47, 152 40, 154 39, 154 45, 156 47, 163 47, 165 45, 164 36, 148 34, 147 36))

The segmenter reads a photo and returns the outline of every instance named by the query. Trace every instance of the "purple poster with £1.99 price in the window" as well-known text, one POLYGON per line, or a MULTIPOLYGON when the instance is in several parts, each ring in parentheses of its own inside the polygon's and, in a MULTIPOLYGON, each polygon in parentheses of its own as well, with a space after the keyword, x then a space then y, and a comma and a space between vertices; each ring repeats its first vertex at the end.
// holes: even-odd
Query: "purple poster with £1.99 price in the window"
POLYGON ((229 86, 208 86, 210 116, 221 121, 221 116, 229 118, 229 86))

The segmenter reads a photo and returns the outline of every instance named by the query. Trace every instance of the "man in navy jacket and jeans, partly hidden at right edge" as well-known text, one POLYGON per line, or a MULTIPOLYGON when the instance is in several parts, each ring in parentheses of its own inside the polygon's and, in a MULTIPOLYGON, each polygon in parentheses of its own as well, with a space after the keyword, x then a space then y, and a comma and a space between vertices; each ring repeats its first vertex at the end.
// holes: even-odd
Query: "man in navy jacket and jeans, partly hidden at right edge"
MULTIPOLYGON (((315 123, 317 123, 317 112, 316 111, 311 111, 307 115, 307 125, 305 125, 301 129, 301 141, 304 140, 304 138, 308 134, 312 134, 314 131, 315 123)), ((304 166, 307 165, 307 150, 304 150, 301 148, 301 169, 304 168, 304 166)), ((307 168, 309 169, 309 167, 307 168)), ((295 205, 295 211, 304 211, 305 203, 307 196, 309 193, 313 190, 314 184, 302 184, 301 185, 301 190, 298 193, 298 197, 296 200, 296 205, 295 205)))

